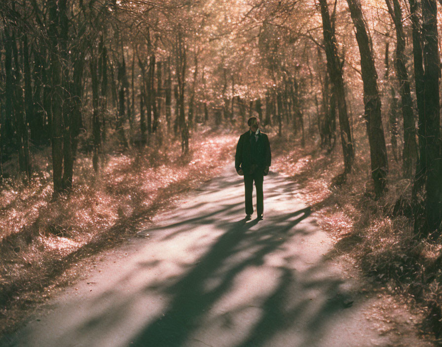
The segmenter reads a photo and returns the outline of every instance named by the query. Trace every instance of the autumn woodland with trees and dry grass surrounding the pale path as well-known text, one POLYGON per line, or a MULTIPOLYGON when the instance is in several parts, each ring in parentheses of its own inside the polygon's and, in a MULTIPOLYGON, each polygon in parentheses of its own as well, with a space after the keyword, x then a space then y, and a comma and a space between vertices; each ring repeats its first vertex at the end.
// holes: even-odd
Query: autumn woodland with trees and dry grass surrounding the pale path
POLYGON ((254 115, 272 169, 299 183, 336 250, 423 310, 438 339, 441 8, 1 1, 3 330, 76 261, 219 173, 254 115))

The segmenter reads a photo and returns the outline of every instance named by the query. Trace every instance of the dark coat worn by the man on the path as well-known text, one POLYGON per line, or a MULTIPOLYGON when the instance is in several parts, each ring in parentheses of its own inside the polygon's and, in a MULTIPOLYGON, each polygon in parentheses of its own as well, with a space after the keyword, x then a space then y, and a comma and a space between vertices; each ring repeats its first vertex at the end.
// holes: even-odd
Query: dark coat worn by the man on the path
POLYGON ((270 152, 270 142, 266 134, 261 133, 256 143, 255 134, 251 135, 250 130, 239 137, 236 145, 235 169, 243 169, 244 174, 252 174, 255 170, 264 170, 270 167, 272 154, 270 152), (252 148, 252 146, 255 146, 252 148))

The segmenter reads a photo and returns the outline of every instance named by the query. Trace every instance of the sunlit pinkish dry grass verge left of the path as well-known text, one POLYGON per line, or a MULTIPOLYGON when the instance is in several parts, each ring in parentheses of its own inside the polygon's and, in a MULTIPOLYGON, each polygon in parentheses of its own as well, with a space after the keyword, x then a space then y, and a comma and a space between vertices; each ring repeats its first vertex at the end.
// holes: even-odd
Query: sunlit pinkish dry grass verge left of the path
POLYGON ((0 192, 0 334, 23 310, 68 283, 77 261, 114 246, 233 160, 236 136, 195 135, 187 155, 173 141, 107 155, 98 175, 76 162, 74 189, 51 201, 49 151, 34 157, 29 185, 9 179, 0 192))

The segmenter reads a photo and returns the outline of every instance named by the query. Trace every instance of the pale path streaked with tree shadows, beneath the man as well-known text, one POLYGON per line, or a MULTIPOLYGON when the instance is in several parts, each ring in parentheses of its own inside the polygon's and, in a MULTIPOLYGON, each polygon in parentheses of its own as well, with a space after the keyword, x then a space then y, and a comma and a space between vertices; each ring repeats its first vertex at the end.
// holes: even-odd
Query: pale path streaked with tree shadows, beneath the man
MULTIPOLYGON (((244 217, 232 165, 91 265, 0 346, 432 346, 398 330, 333 259, 295 183, 264 180, 264 220, 244 217)), ((256 216, 256 215, 254 215, 256 216)), ((407 326, 410 329, 407 329, 407 326)))

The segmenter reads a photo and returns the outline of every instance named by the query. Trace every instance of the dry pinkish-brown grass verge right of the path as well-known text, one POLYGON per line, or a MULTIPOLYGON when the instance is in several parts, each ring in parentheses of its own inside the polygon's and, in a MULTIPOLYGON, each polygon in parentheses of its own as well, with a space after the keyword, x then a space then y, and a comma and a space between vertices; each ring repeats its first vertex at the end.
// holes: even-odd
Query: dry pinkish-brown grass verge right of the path
MULTIPOLYGON (((410 210, 411 183, 390 161, 388 190, 378 201, 369 176, 368 145, 357 149, 345 184, 333 186, 343 171, 342 149, 319 150, 314 141, 273 139, 280 153, 272 169, 299 183, 298 197, 311 205, 320 227, 335 240, 334 252, 350 257, 376 289, 400 294, 428 318, 421 330, 442 336, 441 242, 417 240, 410 210)), ((392 157, 392 156, 390 156, 392 157)))

